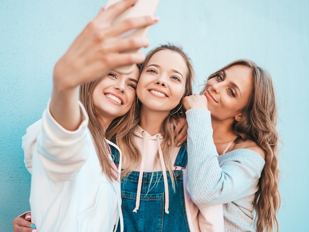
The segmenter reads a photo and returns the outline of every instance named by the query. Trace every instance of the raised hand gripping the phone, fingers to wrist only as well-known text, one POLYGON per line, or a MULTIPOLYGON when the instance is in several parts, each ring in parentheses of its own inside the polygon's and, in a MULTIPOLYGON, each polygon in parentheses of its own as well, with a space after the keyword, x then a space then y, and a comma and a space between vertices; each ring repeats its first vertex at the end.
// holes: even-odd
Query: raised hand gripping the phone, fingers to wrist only
POLYGON ((136 0, 121 0, 108 9, 103 7, 77 36, 67 52, 54 67, 54 86, 61 90, 77 88, 80 84, 100 78, 116 67, 142 63, 144 55, 127 52, 147 47, 147 38, 118 38, 126 31, 150 26, 158 19, 151 16, 131 18, 111 25, 113 19, 136 0), (126 51, 125 53, 121 53, 126 51))

